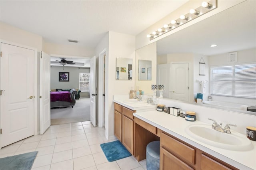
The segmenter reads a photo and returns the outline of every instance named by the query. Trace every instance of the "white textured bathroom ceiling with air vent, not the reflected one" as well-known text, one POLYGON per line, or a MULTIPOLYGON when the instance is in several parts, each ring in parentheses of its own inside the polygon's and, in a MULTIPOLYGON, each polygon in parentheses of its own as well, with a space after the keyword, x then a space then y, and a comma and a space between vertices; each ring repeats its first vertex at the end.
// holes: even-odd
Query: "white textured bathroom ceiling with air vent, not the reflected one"
POLYGON ((188 0, 1 0, 0 20, 45 42, 95 48, 108 31, 136 36, 188 0))

